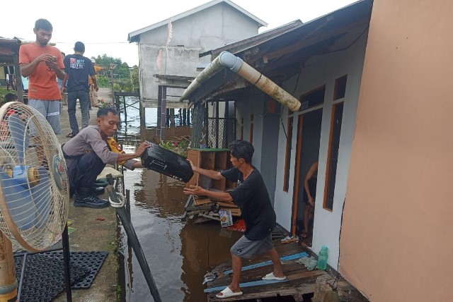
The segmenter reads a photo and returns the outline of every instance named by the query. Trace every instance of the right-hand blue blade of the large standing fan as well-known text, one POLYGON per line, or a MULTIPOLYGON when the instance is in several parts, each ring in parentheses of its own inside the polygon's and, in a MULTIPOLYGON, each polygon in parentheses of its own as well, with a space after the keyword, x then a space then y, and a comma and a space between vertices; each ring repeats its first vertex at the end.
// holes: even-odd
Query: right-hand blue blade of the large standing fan
POLYGON ((40 228, 47 224, 52 205, 52 192, 50 191, 50 176, 49 171, 44 167, 38 168, 40 174, 40 182, 31 188, 31 197, 35 203, 36 222, 35 226, 40 228))

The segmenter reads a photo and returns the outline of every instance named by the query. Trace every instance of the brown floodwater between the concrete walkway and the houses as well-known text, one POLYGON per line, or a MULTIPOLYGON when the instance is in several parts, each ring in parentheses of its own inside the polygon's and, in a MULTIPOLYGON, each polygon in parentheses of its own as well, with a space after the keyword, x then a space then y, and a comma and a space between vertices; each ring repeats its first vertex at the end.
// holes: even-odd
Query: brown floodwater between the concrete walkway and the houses
MULTIPOLYGON (((127 109, 127 127, 122 123, 118 135, 125 150, 134 150, 140 140, 152 139, 156 109, 146 110, 146 127, 141 130, 138 110, 127 109)), ((182 222, 187 196, 180 181, 147 169, 127 170, 124 176, 124 188, 130 190, 132 224, 162 301, 206 301, 203 276, 230 260, 229 248, 242 233, 222 229, 218 222, 182 222)), ((153 301, 137 259, 127 247, 124 231, 122 243, 125 301, 153 301)))

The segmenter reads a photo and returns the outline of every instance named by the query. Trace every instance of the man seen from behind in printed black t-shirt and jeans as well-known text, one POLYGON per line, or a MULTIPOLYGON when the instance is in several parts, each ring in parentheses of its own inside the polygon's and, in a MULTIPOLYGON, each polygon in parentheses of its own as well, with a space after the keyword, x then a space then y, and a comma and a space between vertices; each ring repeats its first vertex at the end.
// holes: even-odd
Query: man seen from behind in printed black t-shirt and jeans
POLYGON ((93 80, 93 85, 98 90, 96 82, 96 73, 94 72, 91 59, 84 56, 85 44, 76 42, 74 45, 74 54, 64 57, 64 72, 66 77, 62 83, 62 93, 68 92, 68 115, 71 133, 66 135, 67 138, 74 138, 79 133, 79 124, 76 119, 76 102, 79 99, 82 114, 82 129, 88 126, 90 119, 90 86, 88 85, 88 75, 93 80), (67 82, 67 87, 65 86, 67 82))

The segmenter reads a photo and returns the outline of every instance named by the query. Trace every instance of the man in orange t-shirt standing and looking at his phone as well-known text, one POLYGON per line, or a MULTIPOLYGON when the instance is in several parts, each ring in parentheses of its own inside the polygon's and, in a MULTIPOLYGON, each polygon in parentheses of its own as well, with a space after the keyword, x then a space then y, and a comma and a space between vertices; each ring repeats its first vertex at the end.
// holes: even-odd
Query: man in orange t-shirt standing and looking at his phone
POLYGON ((19 49, 19 64, 24 77, 29 77, 28 105, 40 111, 52 126, 55 134, 62 133, 59 121, 62 94, 56 78, 64 79, 62 53, 48 45, 52 38, 52 24, 48 20, 35 22, 36 40, 19 49))

